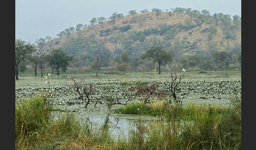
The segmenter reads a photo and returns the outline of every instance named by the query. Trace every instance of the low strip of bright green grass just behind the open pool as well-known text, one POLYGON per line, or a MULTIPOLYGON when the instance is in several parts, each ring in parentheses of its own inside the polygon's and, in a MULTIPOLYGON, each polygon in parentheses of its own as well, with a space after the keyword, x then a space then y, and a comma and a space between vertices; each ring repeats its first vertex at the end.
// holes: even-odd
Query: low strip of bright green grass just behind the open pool
POLYGON ((122 106, 115 109, 115 113, 122 114, 145 114, 154 116, 164 116, 165 118, 178 117, 184 121, 194 121, 196 117, 203 116, 204 114, 211 113, 213 118, 217 120, 220 114, 224 114, 229 108, 218 105, 198 105, 186 104, 185 106, 176 106, 169 104, 164 100, 153 101, 149 104, 145 103, 132 103, 127 106, 122 106), (139 111, 137 110, 139 109, 139 111), (177 114, 177 111, 179 112, 177 114))

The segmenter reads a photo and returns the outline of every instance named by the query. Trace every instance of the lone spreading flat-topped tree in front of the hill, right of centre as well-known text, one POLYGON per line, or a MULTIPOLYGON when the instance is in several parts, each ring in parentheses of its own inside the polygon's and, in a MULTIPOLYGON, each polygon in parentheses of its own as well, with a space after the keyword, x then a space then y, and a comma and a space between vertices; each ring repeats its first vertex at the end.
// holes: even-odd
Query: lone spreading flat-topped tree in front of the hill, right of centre
POLYGON ((172 55, 167 53, 161 45, 152 46, 149 50, 147 50, 142 56, 142 59, 145 58, 153 59, 153 62, 158 63, 159 74, 161 74, 161 65, 165 65, 166 63, 172 61, 172 55))

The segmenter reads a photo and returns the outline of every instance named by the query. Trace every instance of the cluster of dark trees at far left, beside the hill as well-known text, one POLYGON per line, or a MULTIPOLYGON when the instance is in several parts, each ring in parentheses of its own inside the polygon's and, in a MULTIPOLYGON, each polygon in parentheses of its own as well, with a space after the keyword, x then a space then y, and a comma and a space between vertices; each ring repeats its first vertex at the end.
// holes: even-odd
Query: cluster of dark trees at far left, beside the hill
POLYGON ((46 39, 38 39, 37 45, 27 43, 22 39, 15 39, 15 79, 18 80, 19 65, 29 60, 35 64, 35 76, 37 76, 37 67, 41 69, 41 77, 43 77, 43 67, 45 63, 51 66, 52 70, 60 74, 60 71, 66 71, 69 61, 73 56, 69 56, 62 48, 53 48, 51 51, 44 48, 46 39))

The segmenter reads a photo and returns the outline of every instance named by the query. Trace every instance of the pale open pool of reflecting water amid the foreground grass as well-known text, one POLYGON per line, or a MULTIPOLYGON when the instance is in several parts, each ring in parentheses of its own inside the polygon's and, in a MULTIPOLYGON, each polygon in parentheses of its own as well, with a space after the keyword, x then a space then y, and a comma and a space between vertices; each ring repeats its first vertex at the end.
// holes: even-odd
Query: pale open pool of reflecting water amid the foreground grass
MULTIPOLYGON (((64 115, 67 112, 55 112, 54 116, 64 115)), ((93 131, 99 130, 104 125, 106 114, 99 113, 74 113, 81 125, 89 123, 93 131)), ((117 140, 119 137, 129 137, 130 131, 138 132, 141 136, 145 136, 145 131, 149 130, 151 126, 159 126, 161 119, 148 115, 130 115, 130 114, 113 114, 110 116, 110 133, 117 140)))

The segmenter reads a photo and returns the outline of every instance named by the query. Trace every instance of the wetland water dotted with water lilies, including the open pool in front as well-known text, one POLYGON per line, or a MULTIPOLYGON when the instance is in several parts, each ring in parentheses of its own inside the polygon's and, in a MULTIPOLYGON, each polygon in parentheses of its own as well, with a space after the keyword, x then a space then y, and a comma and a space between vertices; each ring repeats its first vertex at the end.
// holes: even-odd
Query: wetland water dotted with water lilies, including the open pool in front
MULTIPOLYGON (((85 109, 85 103, 77 99, 77 93, 71 88, 73 83, 71 76, 68 74, 48 77, 48 79, 51 79, 52 85, 50 88, 51 96, 47 100, 54 105, 54 112, 72 112, 76 114, 81 124, 88 118, 93 127, 101 127, 106 117, 106 104, 103 102, 97 105, 97 108, 93 108, 93 104, 89 104, 88 108, 85 109)), ((121 94, 124 100, 129 97, 129 86, 121 85, 121 81, 157 82, 160 84, 159 90, 164 90, 166 88, 164 83, 170 79, 168 73, 163 73, 159 76, 157 73, 144 72, 122 75, 113 74, 113 76, 112 74, 102 74, 99 78, 94 78, 92 74, 76 74, 76 77, 78 80, 82 79, 96 85, 99 92, 93 95, 94 98, 97 98, 100 94, 114 94, 117 92, 121 94)), ((43 91, 46 92, 48 85, 45 84, 45 81, 45 77, 20 77, 20 80, 15 81, 15 102, 18 103, 43 91)), ((189 72, 189 75, 180 84, 178 98, 183 101, 183 104, 192 102, 227 105, 230 102, 230 97, 236 92, 241 92, 241 71, 220 72, 219 74, 213 72, 203 74, 189 72)), ((110 116, 111 134, 115 138, 119 135, 127 137, 129 130, 137 130, 138 121, 143 126, 149 126, 150 123, 160 123, 160 119, 153 116, 112 114, 110 116)))

